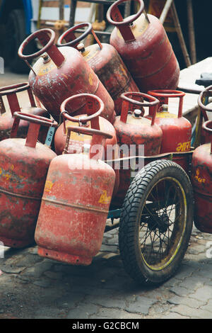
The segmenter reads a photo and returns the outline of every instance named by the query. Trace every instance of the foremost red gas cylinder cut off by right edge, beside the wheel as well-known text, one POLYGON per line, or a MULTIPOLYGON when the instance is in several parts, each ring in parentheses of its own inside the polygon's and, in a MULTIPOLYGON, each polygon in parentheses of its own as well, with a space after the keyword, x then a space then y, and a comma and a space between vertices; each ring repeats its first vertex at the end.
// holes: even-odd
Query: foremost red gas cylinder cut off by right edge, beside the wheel
POLYGON ((212 233, 212 120, 203 124, 211 142, 197 147, 192 156, 194 188, 194 224, 202 232, 212 233))

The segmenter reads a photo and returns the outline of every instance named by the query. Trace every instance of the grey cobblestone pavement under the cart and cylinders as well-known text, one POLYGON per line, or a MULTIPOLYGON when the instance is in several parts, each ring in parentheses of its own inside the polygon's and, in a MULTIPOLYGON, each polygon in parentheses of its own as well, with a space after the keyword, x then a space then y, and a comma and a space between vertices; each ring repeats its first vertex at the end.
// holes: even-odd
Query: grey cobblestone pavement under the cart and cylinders
POLYGON ((182 319, 212 317, 212 235, 193 228, 179 270, 156 288, 138 286, 119 257, 118 232, 106 232, 90 266, 70 266, 27 249, 0 259, 1 318, 182 319), (210 243, 211 242, 211 243, 210 243))

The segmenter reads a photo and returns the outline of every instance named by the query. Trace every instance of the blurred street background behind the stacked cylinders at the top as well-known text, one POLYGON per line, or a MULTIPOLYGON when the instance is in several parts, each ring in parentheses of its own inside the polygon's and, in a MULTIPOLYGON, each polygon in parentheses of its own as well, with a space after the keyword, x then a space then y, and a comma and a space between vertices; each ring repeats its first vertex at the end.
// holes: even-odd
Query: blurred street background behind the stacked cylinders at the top
MULTIPOLYGON (((147 13, 160 18, 169 0, 144 0, 147 13)), ((28 67, 20 60, 17 52, 20 43, 40 28, 52 28, 57 37, 67 28, 81 22, 93 23, 94 30, 102 43, 109 43, 114 26, 106 19, 107 9, 114 1, 94 0, 0 0, 0 56, 5 66, 14 73, 27 73, 28 67)), ((122 9, 127 17, 137 8, 135 1, 122 9)), ((211 9, 208 0, 175 0, 176 15, 169 9, 164 27, 179 62, 180 69, 211 56, 211 9), (176 21, 177 18, 177 21, 176 21)), ((87 44, 92 43, 89 38, 87 44)), ((39 45, 30 43, 28 53, 39 45)))

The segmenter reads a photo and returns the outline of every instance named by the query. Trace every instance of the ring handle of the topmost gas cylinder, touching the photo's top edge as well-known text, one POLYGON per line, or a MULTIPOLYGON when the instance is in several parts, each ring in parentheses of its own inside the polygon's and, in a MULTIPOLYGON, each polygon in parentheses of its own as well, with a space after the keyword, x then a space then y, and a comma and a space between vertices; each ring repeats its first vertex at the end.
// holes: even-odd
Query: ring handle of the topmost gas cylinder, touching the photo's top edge
MULTIPOLYGON (((129 1, 129 0, 118 0, 115 1, 114 4, 110 6, 110 8, 107 11, 107 21, 119 29, 120 33, 122 34, 122 37, 127 42, 130 40, 135 40, 134 34, 132 33, 129 24, 133 23, 136 20, 136 18, 139 18, 139 16, 141 16, 141 13, 143 13, 144 10, 144 4, 143 0, 134 0, 139 2, 140 4, 139 11, 136 14, 129 16, 128 18, 123 18, 122 14, 118 9, 118 5, 122 4, 122 2, 124 1, 129 1)), ((148 16, 146 17, 148 18, 148 16)))

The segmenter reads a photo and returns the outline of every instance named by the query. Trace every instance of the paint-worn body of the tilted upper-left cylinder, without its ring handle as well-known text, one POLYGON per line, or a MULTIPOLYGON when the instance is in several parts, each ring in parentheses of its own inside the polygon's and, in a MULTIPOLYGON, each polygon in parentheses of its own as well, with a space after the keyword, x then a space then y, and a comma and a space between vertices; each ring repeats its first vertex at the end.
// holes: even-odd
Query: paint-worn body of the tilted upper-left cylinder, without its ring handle
MULTIPOLYGON (((105 104, 102 116, 114 122, 114 102, 98 76, 90 68, 80 52, 73 47, 57 49, 64 57, 59 67, 50 59, 40 57, 29 74, 30 86, 55 120, 59 120, 61 103, 75 94, 94 94, 105 104)), ((75 101, 71 106, 73 115, 81 114, 85 101, 75 101)))

